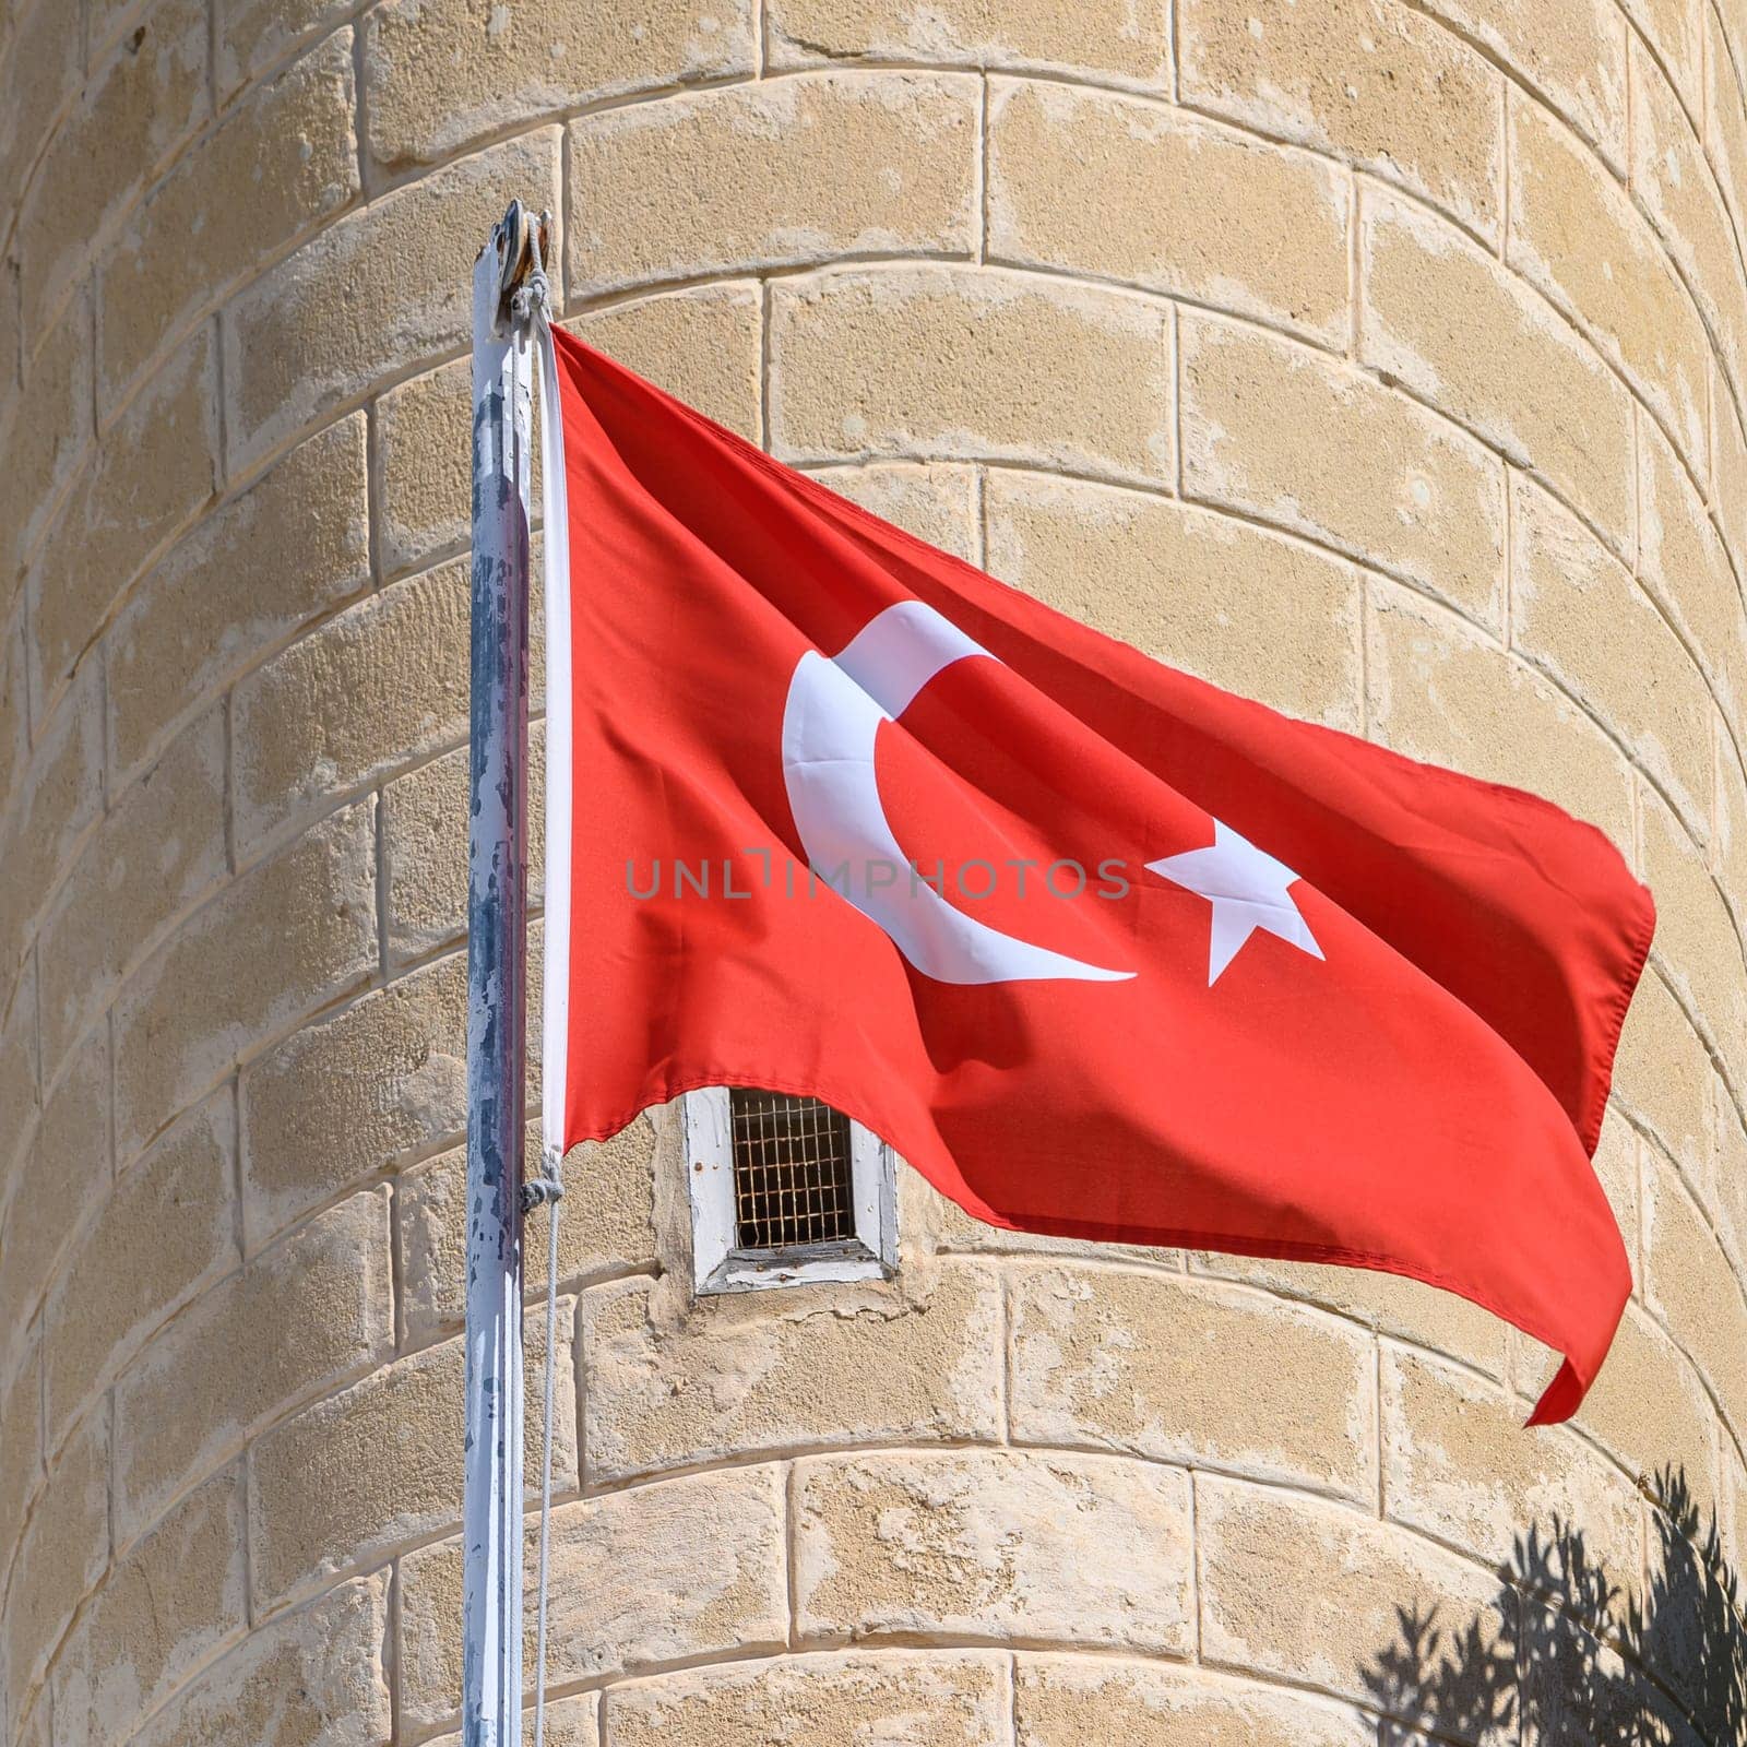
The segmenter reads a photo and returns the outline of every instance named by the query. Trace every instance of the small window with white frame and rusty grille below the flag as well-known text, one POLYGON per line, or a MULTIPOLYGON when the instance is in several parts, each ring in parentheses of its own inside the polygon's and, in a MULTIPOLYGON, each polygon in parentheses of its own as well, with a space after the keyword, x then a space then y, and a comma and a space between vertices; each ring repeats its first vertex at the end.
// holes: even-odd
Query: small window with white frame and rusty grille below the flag
POLYGON ((697 1291, 893 1272, 894 1164, 877 1136, 784 1092, 711 1087, 683 1108, 697 1291))

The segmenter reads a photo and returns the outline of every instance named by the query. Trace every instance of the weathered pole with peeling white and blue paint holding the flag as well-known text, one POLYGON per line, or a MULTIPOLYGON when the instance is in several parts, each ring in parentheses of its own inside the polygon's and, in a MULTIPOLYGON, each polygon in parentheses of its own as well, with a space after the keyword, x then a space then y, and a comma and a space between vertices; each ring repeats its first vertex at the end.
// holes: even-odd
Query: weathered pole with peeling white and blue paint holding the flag
POLYGON ((528 271, 533 224, 512 201, 473 264, 463 1747, 521 1747, 522 1710, 521 1177, 533 346, 510 299, 528 271))

